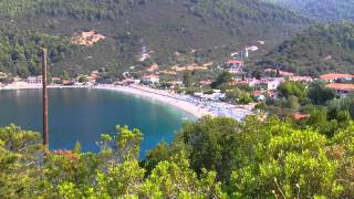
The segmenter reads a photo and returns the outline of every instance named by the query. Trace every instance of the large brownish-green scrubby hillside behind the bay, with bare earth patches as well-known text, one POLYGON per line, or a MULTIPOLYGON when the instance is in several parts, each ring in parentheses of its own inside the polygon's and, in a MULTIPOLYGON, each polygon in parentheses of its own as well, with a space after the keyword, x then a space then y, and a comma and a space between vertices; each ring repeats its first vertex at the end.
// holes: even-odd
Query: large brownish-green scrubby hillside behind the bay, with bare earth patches
POLYGON ((0 13, 6 24, 66 41, 75 33, 91 30, 105 36, 92 48, 77 50, 66 43, 66 48, 73 48, 73 55, 52 61, 54 74, 108 67, 112 75, 118 75, 131 66, 144 70, 153 62, 169 67, 222 61, 231 51, 252 41, 279 43, 310 22, 259 0, 2 0, 0 13), (143 49, 147 49, 150 59, 142 63, 138 60, 143 49), (177 57, 176 52, 186 59, 177 57))

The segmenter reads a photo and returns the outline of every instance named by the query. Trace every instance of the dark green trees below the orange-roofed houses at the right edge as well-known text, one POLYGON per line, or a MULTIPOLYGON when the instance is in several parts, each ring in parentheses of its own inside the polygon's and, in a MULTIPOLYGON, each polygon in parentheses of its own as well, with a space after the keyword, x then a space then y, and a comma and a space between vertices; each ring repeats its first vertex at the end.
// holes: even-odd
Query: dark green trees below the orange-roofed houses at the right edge
POLYGON ((354 95, 337 95, 324 82, 310 85, 284 82, 278 87, 278 97, 267 97, 257 108, 280 118, 294 118, 298 125, 311 126, 329 137, 354 119, 354 95))

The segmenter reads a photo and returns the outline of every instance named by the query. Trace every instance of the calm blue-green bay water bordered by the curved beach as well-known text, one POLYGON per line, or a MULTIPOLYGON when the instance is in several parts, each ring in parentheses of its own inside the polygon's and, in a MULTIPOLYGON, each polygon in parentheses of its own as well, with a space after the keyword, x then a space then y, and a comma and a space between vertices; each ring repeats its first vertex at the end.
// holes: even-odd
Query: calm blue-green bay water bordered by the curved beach
MULTIPOLYGON (((185 119, 195 117, 158 101, 114 91, 52 88, 49 91, 51 149, 71 149, 76 142, 84 151, 97 151, 102 133, 128 125, 144 134, 140 157, 157 143, 170 142, 185 119)), ((41 91, 0 91, 0 126, 15 124, 42 132, 41 91)))

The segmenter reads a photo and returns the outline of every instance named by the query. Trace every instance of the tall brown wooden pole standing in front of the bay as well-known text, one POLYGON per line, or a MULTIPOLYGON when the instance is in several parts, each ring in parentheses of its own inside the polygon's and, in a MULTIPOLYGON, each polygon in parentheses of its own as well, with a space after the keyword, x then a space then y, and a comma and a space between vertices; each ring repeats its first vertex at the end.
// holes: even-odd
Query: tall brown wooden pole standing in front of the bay
POLYGON ((46 88, 46 49, 42 49, 42 106, 43 106, 43 145, 49 148, 48 88, 46 88))

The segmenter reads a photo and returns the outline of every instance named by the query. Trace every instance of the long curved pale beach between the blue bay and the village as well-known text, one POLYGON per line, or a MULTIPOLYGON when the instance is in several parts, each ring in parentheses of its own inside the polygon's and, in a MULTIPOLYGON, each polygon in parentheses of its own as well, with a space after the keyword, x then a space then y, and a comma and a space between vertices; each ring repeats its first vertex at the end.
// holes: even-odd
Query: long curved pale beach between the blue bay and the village
MULTIPOLYGON (((42 88, 41 84, 21 84, 21 85, 7 85, 6 87, 0 87, 3 90, 32 90, 42 88)), ((241 121, 247 115, 253 114, 251 108, 242 107, 239 105, 228 104, 223 102, 210 102, 202 101, 200 98, 195 98, 190 95, 181 95, 169 93, 165 90, 156 90, 142 85, 131 85, 131 86, 119 86, 119 85, 50 85, 48 88, 94 88, 94 90, 110 90, 132 95, 138 95, 140 97, 146 97, 154 101, 159 101, 168 106, 174 106, 183 112, 186 112, 196 118, 201 118, 204 116, 220 116, 220 117, 231 117, 237 121, 241 121)))

